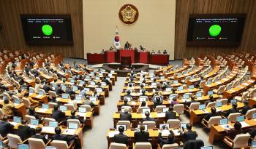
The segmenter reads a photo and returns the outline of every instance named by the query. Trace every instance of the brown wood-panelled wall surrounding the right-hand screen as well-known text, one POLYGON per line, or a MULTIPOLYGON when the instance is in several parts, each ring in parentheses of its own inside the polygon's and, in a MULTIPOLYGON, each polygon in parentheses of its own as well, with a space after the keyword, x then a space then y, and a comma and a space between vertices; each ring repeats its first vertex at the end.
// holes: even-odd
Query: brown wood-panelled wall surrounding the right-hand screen
POLYGON ((197 57, 201 53, 231 53, 256 50, 255 0, 176 0, 175 59, 197 57), (244 33, 239 47, 186 47, 189 14, 246 13, 244 33))

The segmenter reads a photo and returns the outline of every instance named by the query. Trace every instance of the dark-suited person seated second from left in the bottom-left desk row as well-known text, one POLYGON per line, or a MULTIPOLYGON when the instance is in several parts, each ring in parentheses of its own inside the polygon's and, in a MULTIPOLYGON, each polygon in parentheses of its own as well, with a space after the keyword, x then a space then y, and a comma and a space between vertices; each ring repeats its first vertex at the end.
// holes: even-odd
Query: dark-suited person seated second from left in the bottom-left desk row
POLYGON ((31 135, 34 134, 34 132, 35 132, 35 129, 30 128, 30 127, 28 126, 28 121, 26 121, 25 119, 23 119, 23 120, 21 121, 21 125, 18 126, 18 132, 17 132, 17 134, 18 134, 18 136, 20 136, 20 139, 21 139, 22 141, 24 141, 24 140, 28 139, 29 137, 31 137, 31 135))

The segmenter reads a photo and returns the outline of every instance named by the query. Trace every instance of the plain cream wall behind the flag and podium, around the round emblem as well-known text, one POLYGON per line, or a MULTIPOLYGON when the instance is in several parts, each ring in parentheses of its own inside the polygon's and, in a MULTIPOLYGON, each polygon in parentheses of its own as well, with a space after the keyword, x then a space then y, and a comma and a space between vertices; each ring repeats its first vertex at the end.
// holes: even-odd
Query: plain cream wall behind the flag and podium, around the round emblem
POLYGON ((87 52, 113 47, 117 25, 121 47, 129 41, 132 47, 167 49, 174 60, 175 13, 176 0, 83 0, 84 57, 87 52), (124 4, 138 8, 139 17, 133 25, 119 20, 118 11, 124 4))

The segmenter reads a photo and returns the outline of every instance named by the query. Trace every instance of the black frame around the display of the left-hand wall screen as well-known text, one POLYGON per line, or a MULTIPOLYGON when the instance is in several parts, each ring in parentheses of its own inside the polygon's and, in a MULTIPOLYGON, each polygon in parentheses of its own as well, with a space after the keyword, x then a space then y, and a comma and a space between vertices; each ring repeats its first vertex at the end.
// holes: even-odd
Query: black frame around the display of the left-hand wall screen
MULTIPOLYGON (((23 36, 26 44, 31 45, 31 46, 37 46, 37 45, 42 45, 42 46, 47 46, 47 45, 56 45, 56 46, 72 46, 74 44, 73 41, 73 28, 72 28, 72 17, 69 14, 57 14, 57 15, 49 15, 49 14, 20 14, 20 23, 23 28, 23 36), (28 33, 28 28, 27 26, 24 25, 24 20, 28 17, 47 17, 47 18, 64 18, 64 19, 69 19, 69 25, 68 28, 70 28, 70 31, 67 31, 67 36, 70 37, 70 40, 66 41, 31 41, 29 40, 29 34, 28 33)), ((67 24, 66 24, 67 25, 67 24)))

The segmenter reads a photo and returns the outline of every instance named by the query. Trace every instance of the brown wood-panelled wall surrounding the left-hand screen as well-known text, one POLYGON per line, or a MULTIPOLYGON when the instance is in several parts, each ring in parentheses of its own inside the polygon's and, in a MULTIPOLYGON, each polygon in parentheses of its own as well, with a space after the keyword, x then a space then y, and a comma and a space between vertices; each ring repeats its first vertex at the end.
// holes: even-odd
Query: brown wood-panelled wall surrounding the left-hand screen
POLYGON ((0 0, 0 49, 34 49, 61 53, 64 57, 83 58, 83 1, 82 0, 0 0), (20 14, 69 14, 72 19, 72 46, 26 45, 20 14))

